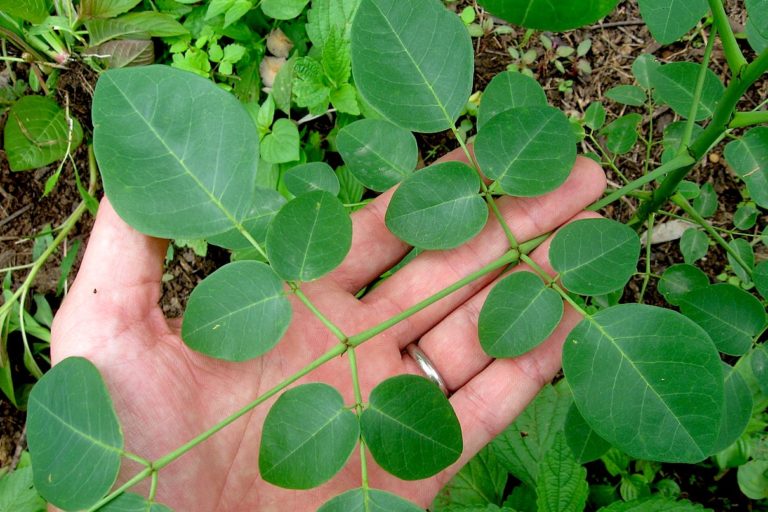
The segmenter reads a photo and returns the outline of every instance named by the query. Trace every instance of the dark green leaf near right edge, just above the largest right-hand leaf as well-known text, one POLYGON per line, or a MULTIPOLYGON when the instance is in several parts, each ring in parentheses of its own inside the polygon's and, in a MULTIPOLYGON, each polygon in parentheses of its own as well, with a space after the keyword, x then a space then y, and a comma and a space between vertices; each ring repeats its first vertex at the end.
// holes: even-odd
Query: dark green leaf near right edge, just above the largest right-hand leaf
POLYGON ((744 355, 765 326, 765 309, 753 295, 730 284, 693 290, 679 299, 680 311, 707 331, 720 352, 744 355))

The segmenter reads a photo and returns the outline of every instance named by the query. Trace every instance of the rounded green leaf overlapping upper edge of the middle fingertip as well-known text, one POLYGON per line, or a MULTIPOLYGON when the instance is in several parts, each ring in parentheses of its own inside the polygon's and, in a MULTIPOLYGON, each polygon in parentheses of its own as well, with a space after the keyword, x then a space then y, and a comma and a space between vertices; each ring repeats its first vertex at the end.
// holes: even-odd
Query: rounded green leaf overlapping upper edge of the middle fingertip
POLYGON ((483 126, 475 156, 483 173, 507 194, 538 196, 568 178, 576 161, 576 139, 560 110, 515 108, 483 126))

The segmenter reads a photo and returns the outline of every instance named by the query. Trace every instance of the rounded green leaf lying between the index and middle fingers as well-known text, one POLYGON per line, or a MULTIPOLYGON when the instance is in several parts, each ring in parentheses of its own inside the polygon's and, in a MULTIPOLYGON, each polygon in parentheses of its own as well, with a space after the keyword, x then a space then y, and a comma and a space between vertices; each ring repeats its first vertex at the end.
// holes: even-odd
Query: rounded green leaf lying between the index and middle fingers
POLYGON ((385 222, 398 238, 421 249, 452 249, 477 235, 488 208, 480 178, 461 162, 435 164, 395 191, 385 222))

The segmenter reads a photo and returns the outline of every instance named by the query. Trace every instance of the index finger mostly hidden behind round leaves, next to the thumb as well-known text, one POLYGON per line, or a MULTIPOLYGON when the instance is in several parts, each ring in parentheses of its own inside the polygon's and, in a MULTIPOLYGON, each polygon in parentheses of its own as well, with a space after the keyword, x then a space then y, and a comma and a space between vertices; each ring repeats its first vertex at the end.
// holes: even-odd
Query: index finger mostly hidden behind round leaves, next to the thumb
MULTIPOLYGON (((461 149, 448 153, 438 162, 450 160, 467 162, 461 149)), ((350 293, 357 292, 395 266, 411 249, 384 224, 394 191, 394 188, 388 190, 352 214, 352 248, 342 264, 329 275, 350 293)))

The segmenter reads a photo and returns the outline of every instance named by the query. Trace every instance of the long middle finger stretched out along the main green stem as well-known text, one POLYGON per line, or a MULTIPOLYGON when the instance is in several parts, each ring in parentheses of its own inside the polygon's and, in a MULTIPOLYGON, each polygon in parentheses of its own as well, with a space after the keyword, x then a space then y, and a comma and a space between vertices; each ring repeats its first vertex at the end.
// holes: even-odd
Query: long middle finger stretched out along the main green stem
MULTIPOLYGON (((518 241, 552 231, 597 199, 605 188, 605 174, 590 159, 580 158, 568 180, 557 190, 536 198, 504 197, 499 209, 518 241)), ((374 323, 397 315, 419 301, 459 281, 508 250, 499 223, 492 219, 469 243, 451 251, 420 254, 362 300, 374 323)), ((495 278, 486 275, 393 327, 386 337, 400 348, 419 338, 449 312, 495 278)))

